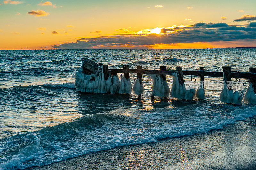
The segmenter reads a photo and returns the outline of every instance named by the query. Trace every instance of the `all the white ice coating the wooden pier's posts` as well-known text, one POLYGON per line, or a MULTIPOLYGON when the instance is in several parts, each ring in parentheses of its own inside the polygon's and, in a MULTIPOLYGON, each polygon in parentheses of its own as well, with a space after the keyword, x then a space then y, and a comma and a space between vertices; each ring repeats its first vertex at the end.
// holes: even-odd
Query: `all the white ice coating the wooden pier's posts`
MULTIPOLYGON (((169 88, 166 80, 158 74, 148 75, 150 81, 152 82, 152 95, 158 97, 176 97, 180 100, 193 100, 195 98, 205 99, 205 90, 203 82, 200 82, 200 85, 196 91, 193 87, 187 87, 183 83, 179 83, 179 74, 177 72, 172 73, 173 84, 172 88, 169 88)), ((107 80, 104 78, 103 69, 99 69, 93 75, 86 75, 82 73, 80 68, 76 73, 75 86, 76 89, 81 92, 87 93, 112 93, 112 94, 130 94, 135 93, 136 95, 143 94, 144 87, 140 83, 139 79, 135 81, 133 88, 130 81, 130 78, 126 79, 124 76, 121 76, 121 81, 117 75, 109 77, 107 80)), ((220 93, 220 101, 224 103, 232 104, 241 104, 244 100, 247 104, 256 104, 256 94, 253 91, 252 83, 249 84, 248 89, 242 97, 237 91, 228 90, 226 84, 224 83, 224 88, 220 93)))

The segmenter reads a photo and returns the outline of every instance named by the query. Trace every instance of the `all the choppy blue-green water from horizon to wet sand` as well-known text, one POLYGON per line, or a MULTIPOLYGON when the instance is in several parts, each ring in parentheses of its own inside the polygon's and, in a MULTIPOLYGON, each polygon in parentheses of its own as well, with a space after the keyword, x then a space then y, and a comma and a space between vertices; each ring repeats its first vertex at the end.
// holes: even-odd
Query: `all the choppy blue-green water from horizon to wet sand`
MULTIPOLYGON (((221 104, 216 88, 206 89, 206 101, 169 97, 151 102, 147 75, 141 99, 134 94, 81 94, 74 85, 81 57, 110 68, 204 66, 221 71, 221 66, 230 65, 234 71, 248 72, 256 67, 255 50, 0 50, 0 169, 24 169, 118 146, 207 133, 256 115, 251 105, 221 104)), ((136 75, 130 77, 133 84, 136 75)), ((205 77, 215 86, 220 80, 205 77)), ((171 87, 172 78, 167 81, 171 87)), ((196 77, 193 82, 198 81, 196 77)), ((244 95, 248 82, 242 81, 239 93, 244 95)))

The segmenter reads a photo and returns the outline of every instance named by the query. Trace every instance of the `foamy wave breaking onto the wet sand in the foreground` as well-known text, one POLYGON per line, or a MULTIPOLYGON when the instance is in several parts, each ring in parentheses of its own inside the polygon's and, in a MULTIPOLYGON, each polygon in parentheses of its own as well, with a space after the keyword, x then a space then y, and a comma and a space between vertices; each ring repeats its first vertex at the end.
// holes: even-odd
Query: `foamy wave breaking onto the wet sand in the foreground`
POLYGON ((164 125, 160 124, 159 120, 165 120, 166 116, 183 114, 183 110, 145 112, 140 120, 122 114, 122 111, 86 115, 73 122, 43 128, 37 133, 5 138, 0 145, 0 151, 4 148, 17 147, 20 143, 23 143, 23 148, 11 157, 1 158, 0 169, 25 169, 119 146, 207 133, 253 117, 256 115, 255 110, 255 106, 236 107, 228 115, 225 111, 211 112, 212 119, 209 119, 208 116, 201 115, 202 112, 207 113, 207 109, 201 109, 200 114, 193 115, 196 117, 180 123, 164 125))

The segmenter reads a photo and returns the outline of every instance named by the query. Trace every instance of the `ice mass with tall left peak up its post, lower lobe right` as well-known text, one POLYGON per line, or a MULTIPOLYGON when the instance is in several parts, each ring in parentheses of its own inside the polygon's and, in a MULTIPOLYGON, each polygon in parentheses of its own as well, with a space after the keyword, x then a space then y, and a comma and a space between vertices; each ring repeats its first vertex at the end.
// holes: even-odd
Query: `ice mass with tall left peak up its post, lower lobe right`
POLYGON ((196 89, 192 87, 188 87, 186 89, 185 84, 182 85, 179 83, 177 72, 173 73, 173 84, 171 89, 171 97, 176 97, 180 100, 193 100, 196 98, 196 89))

